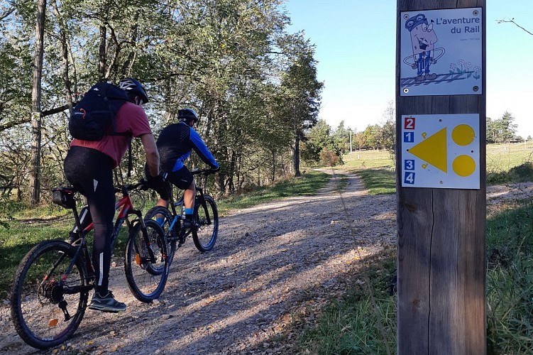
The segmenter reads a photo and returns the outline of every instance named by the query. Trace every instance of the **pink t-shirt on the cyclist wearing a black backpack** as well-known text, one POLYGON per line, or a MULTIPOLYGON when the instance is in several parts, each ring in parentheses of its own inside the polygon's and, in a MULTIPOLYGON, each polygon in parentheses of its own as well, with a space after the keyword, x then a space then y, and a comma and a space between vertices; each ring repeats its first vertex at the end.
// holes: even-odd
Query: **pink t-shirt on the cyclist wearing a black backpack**
MULTIPOLYGON (((131 133, 133 137, 142 136, 145 133, 152 133, 150 124, 148 124, 148 117, 142 107, 131 102, 123 104, 116 113, 115 124, 116 132, 131 133)), ((113 168, 116 168, 128 149, 131 136, 104 136, 101 141, 82 141, 81 139, 74 138, 70 142, 70 146, 87 147, 101 151, 113 159, 113 168)))

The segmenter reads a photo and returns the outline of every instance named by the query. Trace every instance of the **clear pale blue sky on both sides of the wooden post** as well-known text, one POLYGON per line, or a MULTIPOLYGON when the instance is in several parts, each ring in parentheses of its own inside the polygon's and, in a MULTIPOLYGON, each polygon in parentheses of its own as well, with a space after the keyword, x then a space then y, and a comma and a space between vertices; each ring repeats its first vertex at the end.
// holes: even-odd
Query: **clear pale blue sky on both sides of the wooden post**
MULTIPOLYGON (((324 82, 320 118, 363 131, 382 124, 395 99, 395 0, 287 0, 291 32, 304 30, 316 45, 318 80, 324 82)), ((517 132, 533 136, 533 2, 487 0, 487 116, 509 111, 517 132)))

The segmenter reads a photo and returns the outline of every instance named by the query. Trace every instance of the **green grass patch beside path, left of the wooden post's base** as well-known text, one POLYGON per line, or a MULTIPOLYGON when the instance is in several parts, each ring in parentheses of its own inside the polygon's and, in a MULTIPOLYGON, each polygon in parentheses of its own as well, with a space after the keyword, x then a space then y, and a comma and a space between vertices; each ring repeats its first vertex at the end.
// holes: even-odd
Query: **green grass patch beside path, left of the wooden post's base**
POLYGON ((387 354, 387 348, 395 353, 396 295, 391 292, 394 254, 390 248, 364 261, 366 270, 353 275, 351 290, 340 300, 332 300, 322 310, 317 325, 298 338, 300 354, 387 354), (366 280, 372 285, 373 298, 366 280))

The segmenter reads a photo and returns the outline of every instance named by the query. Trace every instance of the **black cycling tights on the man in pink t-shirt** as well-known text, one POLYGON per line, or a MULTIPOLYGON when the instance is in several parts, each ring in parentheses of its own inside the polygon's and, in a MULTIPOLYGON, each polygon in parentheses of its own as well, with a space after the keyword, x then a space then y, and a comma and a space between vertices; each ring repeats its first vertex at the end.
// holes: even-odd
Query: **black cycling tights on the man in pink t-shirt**
POLYGON ((87 197, 94 223, 92 262, 96 273, 95 290, 104 296, 109 285, 111 234, 115 214, 111 158, 92 148, 73 146, 67 153, 64 168, 67 180, 87 197))

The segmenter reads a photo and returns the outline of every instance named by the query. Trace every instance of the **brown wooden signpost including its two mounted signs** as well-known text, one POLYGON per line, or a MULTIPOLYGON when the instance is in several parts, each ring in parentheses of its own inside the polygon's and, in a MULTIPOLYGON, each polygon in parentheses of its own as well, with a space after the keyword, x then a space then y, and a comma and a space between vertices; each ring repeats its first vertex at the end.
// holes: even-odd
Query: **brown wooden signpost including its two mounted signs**
POLYGON ((397 354, 486 354, 485 0, 397 5, 397 354))

